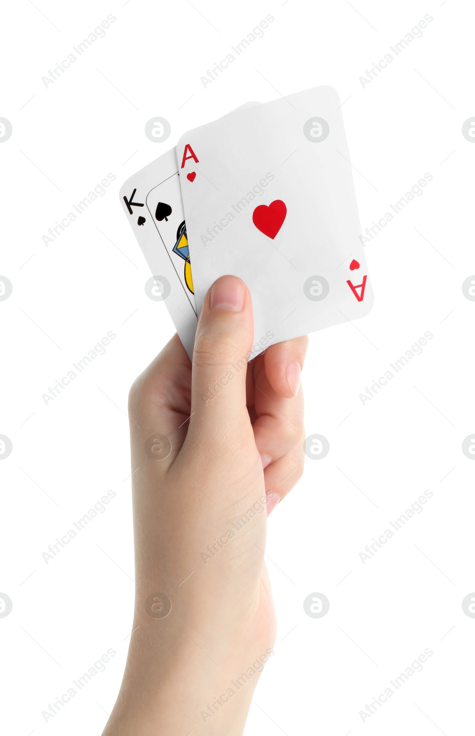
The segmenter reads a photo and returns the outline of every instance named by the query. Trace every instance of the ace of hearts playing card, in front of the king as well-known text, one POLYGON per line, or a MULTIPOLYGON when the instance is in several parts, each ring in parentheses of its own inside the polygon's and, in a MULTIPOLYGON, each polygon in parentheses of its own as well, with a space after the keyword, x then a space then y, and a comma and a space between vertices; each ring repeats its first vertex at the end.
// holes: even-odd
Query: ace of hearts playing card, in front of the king
POLYGON ((214 280, 241 277, 253 297, 253 355, 373 305, 339 106, 333 88, 314 88, 177 144, 198 314, 214 280))

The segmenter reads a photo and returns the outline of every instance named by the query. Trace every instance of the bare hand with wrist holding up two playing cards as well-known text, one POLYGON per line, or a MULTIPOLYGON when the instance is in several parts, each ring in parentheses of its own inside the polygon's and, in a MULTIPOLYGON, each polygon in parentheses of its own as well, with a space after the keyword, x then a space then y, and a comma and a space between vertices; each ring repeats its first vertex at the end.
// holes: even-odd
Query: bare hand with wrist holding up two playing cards
POLYGON ((307 338, 247 364, 252 343, 250 293, 222 277, 192 369, 175 335, 130 390, 136 606, 105 736, 244 729, 275 641, 266 517, 303 470, 307 338))

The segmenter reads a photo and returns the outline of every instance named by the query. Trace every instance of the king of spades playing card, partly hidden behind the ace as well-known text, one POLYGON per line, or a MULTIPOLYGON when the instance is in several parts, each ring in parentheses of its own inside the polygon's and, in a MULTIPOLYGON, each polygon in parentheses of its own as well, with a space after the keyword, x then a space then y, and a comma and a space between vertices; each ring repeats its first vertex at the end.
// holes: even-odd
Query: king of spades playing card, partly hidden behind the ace
MULTIPOLYGON (((253 105, 259 103, 247 102, 237 109, 253 105)), ((146 284, 147 294, 165 301, 191 358, 197 308, 175 149, 127 179, 119 197, 153 275, 146 284)))

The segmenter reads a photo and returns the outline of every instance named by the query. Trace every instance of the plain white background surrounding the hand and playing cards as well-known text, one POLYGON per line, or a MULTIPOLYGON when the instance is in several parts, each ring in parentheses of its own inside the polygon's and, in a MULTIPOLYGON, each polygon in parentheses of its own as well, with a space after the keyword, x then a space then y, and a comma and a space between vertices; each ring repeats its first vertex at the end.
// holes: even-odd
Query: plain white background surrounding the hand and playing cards
MULTIPOLYGON (((269 523, 278 639, 247 736, 468 733, 473 719, 475 464, 474 7, 468 1, 247 3, 18 0, 1 25, 0 619, 5 733, 99 734, 127 653, 133 538, 127 392, 174 328, 144 292, 147 264, 119 187, 189 128, 247 100, 321 84, 342 107, 363 230, 426 172, 434 179, 367 244, 373 311, 314 333, 303 372, 306 431, 330 442, 269 523), (199 12, 198 12, 199 11, 199 12), (53 84, 43 75, 116 16, 53 84), (268 13, 275 21, 207 88, 200 77, 268 13), (359 77, 426 13, 422 38, 359 77), (204 16, 204 17, 203 17, 204 16), (152 116, 172 135, 144 135, 152 116), (42 236, 108 172, 104 197, 46 247, 42 236), (48 387, 112 330, 116 339, 48 406, 48 387), (426 330, 433 339, 363 406, 359 394, 426 330), (104 514, 48 565, 42 553, 114 489, 104 514), (421 514, 363 565, 359 552, 425 490, 421 514), (343 579, 344 578, 344 579, 343 579), (323 592, 325 618, 303 600, 323 592), (291 632, 291 633, 289 633, 291 632), (449 632, 449 633, 448 633, 449 632), (287 635, 288 634, 288 635, 287 635), (285 637, 285 638, 284 638, 285 637), (433 656, 365 723, 373 696, 433 656), (48 723, 42 710, 108 648, 116 657, 48 723)), ((394 54, 393 54, 394 55, 394 54)), ((312 222, 309 222, 312 227, 312 222)), ((393 688, 394 689, 394 688, 393 688)), ((184 735, 183 735, 184 736, 184 735)))

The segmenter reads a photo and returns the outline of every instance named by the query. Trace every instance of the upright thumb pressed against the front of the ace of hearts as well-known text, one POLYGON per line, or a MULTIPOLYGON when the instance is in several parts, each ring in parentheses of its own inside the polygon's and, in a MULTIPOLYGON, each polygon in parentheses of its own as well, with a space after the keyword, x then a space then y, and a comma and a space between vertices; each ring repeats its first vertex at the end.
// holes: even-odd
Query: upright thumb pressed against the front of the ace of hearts
POLYGON ((246 372, 253 333, 249 289, 236 276, 222 276, 206 294, 194 344, 187 442, 202 450, 216 453, 235 445, 244 428, 252 433, 246 372))

